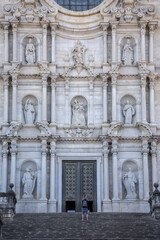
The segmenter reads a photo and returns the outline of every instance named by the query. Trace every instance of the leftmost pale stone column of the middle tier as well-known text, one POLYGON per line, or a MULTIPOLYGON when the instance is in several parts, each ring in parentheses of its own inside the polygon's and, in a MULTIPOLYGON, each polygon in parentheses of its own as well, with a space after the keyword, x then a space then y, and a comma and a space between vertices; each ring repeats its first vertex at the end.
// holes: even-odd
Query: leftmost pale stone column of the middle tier
POLYGON ((3 74, 4 80, 4 123, 8 123, 8 86, 9 75, 3 74))

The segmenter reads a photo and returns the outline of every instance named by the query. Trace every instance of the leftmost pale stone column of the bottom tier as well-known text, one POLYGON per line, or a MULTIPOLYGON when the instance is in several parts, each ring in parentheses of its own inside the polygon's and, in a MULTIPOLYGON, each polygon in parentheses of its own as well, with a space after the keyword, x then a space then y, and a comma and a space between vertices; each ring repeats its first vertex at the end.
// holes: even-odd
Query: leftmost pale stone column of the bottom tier
POLYGON ((7 176, 8 176, 8 143, 4 141, 2 145, 2 192, 7 192, 7 176))

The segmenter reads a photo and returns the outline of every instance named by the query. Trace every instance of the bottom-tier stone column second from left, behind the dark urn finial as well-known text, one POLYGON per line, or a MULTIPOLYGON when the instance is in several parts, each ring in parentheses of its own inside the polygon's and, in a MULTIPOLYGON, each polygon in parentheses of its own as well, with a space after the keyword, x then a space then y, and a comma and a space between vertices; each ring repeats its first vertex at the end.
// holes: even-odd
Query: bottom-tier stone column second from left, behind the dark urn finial
POLYGON ((13 139, 11 142, 11 169, 10 169, 10 183, 14 184, 14 189, 16 187, 16 160, 17 160, 17 142, 13 139))

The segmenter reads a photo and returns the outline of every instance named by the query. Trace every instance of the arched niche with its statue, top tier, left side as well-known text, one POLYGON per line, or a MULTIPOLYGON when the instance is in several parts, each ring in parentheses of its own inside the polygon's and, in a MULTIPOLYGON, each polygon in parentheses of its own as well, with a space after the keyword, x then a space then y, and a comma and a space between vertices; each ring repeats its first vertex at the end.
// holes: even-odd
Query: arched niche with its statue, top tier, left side
POLYGON ((23 39, 21 58, 24 65, 34 65, 38 62, 38 41, 34 36, 23 39))

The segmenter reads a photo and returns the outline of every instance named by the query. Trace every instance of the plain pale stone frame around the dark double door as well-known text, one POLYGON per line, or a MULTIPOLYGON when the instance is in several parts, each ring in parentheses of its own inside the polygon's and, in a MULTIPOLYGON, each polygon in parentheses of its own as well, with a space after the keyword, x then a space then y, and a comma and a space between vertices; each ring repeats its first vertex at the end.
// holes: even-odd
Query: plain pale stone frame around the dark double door
MULTIPOLYGON (((58 154, 57 154, 58 155, 58 154)), ((61 154, 59 154, 61 155, 61 154)), ((78 154, 79 155, 79 154, 78 154)), ((102 202, 102 189, 103 189, 103 181, 102 181, 102 172, 101 171, 101 163, 102 163, 102 155, 96 154, 96 156, 92 156, 93 154, 80 154, 81 156, 73 156, 73 154, 65 154, 65 156, 57 156, 58 157, 58 181, 57 181, 57 200, 58 200, 58 212, 62 212, 62 161, 96 161, 96 175, 97 175, 97 212, 101 212, 101 202, 102 202), (66 156, 67 155, 67 156, 66 156)))

